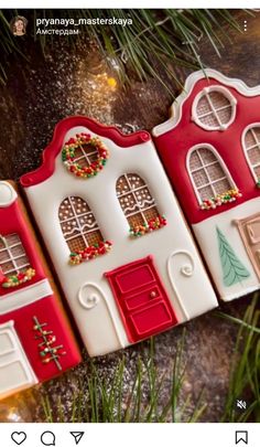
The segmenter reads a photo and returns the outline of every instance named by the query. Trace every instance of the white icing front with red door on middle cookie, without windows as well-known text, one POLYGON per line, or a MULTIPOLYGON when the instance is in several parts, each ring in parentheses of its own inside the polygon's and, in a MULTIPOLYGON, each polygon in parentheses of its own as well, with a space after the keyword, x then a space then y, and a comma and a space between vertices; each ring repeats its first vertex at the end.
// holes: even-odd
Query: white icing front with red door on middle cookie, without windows
MULTIPOLYGON (((94 356, 197 317, 215 308, 217 300, 152 141, 121 147, 115 138, 99 135, 109 151, 107 164, 96 177, 80 179, 66 170, 61 155, 64 143, 80 132, 98 136, 85 126, 71 126, 64 138, 59 136, 53 174, 28 185, 25 192, 83 340, 94 356), (155 201, 160 214, 165 215, 165 226, 130 237, 116 192, 123 174, 143 180, 150 193, 147 206, 155 201), (65 238, 73 230, 69 226, 65 237, 58 217, 61 204, 72 198, 88 204, 104 240, 112 242, 108 253, 79 265, 68 263, 65 238)), ((57 135, 58 129, 56 139, 57 135)))

